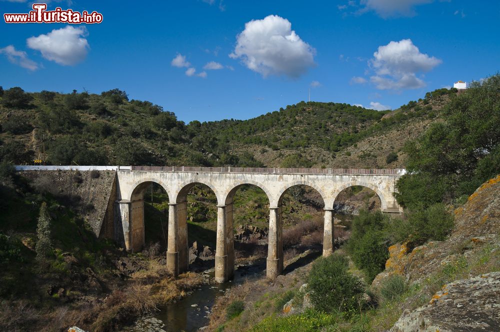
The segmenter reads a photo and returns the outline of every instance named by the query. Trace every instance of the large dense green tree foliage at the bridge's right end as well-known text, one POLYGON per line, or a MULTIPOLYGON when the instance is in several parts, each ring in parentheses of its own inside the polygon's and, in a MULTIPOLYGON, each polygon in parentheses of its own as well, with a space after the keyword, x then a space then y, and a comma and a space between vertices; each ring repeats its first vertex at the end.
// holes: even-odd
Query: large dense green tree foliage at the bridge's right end
POLYGON ((396 194, 403 206, 451 202, 500 173, 500 74, 472 82, 444 115, 405 146, 408 173, 396 194))

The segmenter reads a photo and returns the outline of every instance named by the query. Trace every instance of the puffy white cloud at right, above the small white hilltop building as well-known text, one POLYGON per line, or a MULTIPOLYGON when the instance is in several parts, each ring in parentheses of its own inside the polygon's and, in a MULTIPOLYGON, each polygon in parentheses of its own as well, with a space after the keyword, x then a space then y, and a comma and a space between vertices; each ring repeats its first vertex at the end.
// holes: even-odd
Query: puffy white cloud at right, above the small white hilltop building
POLYGON ((411 39, 391 41, 378 46, 369 61, 375 71, 370 81, 378 89, 418 88, 425 82, 416 77, 420 71, 429 71, 442 61, 434 56, 420 53, 411 39))

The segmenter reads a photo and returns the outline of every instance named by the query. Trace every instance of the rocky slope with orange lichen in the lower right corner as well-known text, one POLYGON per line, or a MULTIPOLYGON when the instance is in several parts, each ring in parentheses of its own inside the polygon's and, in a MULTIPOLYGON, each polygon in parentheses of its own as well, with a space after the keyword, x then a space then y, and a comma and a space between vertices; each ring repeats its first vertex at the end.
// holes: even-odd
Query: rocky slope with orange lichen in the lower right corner
POLYGON ((373 285, 401 274, 416 289, 391 332, 500 330, 500 175, 454 213, 448 239, 389 248, 386 269, 373 285))

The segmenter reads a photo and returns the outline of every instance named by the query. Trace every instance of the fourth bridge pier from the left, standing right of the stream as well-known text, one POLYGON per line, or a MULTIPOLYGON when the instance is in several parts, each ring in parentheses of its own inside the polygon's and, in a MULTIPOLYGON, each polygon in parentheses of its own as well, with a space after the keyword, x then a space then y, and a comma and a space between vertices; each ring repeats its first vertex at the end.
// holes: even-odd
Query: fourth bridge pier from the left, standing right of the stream
POLYGON ((283 232, 281 206, 269 207, 269 236, 266 275, 274 280, 283 271, 283 232))

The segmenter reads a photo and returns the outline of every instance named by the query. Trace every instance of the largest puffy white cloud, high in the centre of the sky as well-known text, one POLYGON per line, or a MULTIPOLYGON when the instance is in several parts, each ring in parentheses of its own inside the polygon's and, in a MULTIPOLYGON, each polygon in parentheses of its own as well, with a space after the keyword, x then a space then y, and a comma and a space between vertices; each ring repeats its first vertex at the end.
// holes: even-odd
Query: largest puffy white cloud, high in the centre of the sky
POLYGON ((280 16, 245 23, 236 37, 231 58, 240 58, 251 70, 262 76, 298 77, 315 65, 315 49, 291 29, 291 23, 280 16))

